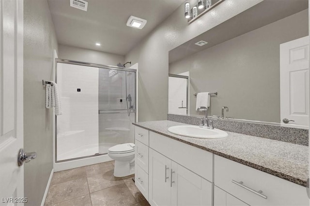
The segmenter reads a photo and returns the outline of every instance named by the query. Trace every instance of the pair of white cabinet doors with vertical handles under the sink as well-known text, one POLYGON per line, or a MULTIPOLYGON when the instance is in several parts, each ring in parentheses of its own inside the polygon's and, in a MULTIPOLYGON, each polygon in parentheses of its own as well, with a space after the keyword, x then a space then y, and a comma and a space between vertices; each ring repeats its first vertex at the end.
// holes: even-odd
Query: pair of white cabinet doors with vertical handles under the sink
POLYGON ((150 148, 152 206, 212 206, 213 184, 150 148))

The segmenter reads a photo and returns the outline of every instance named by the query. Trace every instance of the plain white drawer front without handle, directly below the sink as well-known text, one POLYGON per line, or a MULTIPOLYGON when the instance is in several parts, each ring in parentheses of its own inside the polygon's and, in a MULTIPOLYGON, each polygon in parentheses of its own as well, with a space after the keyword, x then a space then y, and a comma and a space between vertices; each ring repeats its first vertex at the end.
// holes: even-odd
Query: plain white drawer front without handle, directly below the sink
POLYGON ((212 153, 155 132, 150 132, 150 147, 197 175, 213 182, 212 153))

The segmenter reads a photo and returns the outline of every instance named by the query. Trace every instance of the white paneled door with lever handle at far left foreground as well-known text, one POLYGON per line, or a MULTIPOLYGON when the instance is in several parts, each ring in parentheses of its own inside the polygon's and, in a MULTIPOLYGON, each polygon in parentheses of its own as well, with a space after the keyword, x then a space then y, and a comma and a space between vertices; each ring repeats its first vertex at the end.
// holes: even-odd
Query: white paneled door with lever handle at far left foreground
POLYGON ((23 205, 23 0, 0 1, 0 205, 23 205))

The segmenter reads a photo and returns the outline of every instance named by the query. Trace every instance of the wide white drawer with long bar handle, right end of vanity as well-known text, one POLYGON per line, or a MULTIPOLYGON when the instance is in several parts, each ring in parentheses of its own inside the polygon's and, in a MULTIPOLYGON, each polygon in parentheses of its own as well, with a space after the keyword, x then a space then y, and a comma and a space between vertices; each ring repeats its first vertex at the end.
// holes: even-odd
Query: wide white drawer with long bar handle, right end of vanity
POLYGON ((251 206, 308 205, 306 187, 217 155, 214 184, 251 206), (238 185, 241 181, 244 187, 238 185), (255 191, 263 191, 264 197, 255 191))

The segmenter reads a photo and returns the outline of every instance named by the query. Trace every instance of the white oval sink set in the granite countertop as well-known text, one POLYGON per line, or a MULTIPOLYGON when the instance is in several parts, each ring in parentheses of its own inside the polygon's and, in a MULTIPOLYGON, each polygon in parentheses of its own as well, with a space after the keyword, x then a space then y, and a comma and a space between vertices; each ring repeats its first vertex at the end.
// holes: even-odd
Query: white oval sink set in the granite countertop
POLYGON ((179 125, 168 128, 168 131, 174 134, 197 137, 204 139, 224 138, 228 136, 227 132, 218 129, 208 129, 194 125, 179 125))

